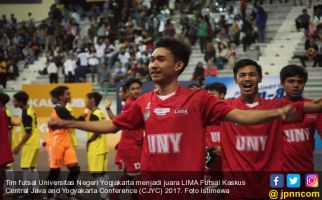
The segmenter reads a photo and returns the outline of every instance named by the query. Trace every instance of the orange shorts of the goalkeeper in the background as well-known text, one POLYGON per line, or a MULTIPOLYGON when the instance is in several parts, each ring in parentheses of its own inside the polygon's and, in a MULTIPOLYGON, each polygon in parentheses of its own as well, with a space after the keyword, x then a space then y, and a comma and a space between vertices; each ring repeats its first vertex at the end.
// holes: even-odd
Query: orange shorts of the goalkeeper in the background
POLYGON ((52 169, 60 168, 62 165, 78 163, 76 151, 72 144, 46 146, 49 167, 52 169))

